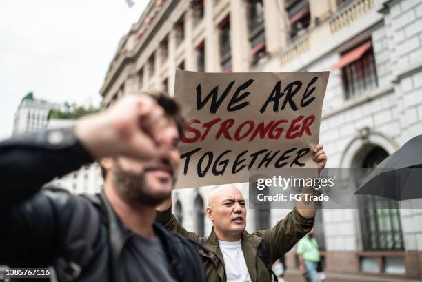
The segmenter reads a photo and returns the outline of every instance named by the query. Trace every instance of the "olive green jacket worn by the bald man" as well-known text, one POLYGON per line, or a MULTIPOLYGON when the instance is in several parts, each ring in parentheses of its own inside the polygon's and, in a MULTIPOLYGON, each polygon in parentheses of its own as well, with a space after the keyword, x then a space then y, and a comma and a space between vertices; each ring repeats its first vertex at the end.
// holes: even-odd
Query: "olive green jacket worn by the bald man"
MULTIPOLYGON (((157 212, 156 221, 163 224, 168 230, 177 232, 199 242, 198 234, 186 231, 171 213, 171 208, 163 212, 157 212)), ((288 252, 299 239, 305 236, 305 234, 312 229, 313 225, 314 219, 305 219, 299 214, 297 209, 294 208, 284 219, 277 222, 273 228, 260 230, 254 232, 254 234, 249 234, 244 231, 241 237, 241 245, 252 282, 272 281, 270 272, 268 272, 265 264, 257 254, 257 248, 261 241, 264 241, 267 246, 270 263, 272 265, 272 263, 277 261, 282 254, 288 252)), ((223 254, 219 248, 219 241, 214 230, 212 230, 208 237, 205 248, 207 248, 209 252, 199 249, 199 254, 205 265, 207 281, 225 282, 226 277, 223 254)))

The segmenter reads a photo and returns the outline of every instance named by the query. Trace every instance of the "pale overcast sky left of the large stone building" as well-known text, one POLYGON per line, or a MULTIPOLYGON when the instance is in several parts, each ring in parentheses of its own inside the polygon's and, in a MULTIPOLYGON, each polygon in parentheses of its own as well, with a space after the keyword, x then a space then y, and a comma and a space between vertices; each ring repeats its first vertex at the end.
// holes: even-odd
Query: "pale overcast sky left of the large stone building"
POLYGON ((121 37, 149 0, 2 0, 0 139, 12 134, 23 96, 79 104, 99 89, 121 37))

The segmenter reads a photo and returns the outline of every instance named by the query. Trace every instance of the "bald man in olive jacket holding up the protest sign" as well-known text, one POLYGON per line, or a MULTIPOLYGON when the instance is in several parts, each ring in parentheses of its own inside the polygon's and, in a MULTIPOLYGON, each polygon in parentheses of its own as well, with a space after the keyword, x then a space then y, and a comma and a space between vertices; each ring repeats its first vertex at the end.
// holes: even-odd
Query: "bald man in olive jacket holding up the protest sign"
MULTIPOLYGON (((314 161, 322 170, 327 163, 323 146, 313 148, 314 161)), ((312 188, 303 188, 302 193, 312 188)), ((313 189, 312 189, 313 190, 313 189)), ((271 265, 288 252, 314 225, 316 210, 298 202, 296 207, 274 227, 249 234, 246 228, 246 206, 243 194, 234 185, 222 185, 208 199, 206 215, 212 221, 212 232, 199 248, 209 282, 270 282, 271 265), (263 255, 265 254, 265 255, 263 255), (263 257, 266 256, 266 257, 263 257)), ((165 228, 201 242, 198 234, 188 232, 171 214, 171 199, 157 207, 157 221, 165 228)))

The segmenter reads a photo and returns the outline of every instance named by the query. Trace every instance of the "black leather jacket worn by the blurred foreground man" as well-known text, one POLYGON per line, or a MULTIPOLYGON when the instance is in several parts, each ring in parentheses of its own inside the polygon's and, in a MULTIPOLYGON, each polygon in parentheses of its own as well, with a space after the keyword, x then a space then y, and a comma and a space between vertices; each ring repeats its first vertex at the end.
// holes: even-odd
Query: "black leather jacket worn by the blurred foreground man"
MULTIPOLYGON (((134 234, 106 197, 41 186, 92 158, 74 129, 27 134, 0 143, 0 265, 53 265, 59 281, 128 281, 120 254, 134 234)), ((205 281, 197 250, 158 223, 154 230, 178 281, 205 281)))

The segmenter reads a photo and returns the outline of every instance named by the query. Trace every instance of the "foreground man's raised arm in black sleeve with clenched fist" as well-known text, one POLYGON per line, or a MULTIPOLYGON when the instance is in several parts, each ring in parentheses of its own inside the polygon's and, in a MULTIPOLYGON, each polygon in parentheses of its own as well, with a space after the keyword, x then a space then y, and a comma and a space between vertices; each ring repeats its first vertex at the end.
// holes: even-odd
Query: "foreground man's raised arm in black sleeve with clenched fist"
POLYGON ((0 143, 0 207, 28 199, 54 177, 94 159, 123 154, 150 159, 161 152, 154 133, 165 123, 163 109, 146 95, 124 97, 74 128, 24 134, 0 143))

